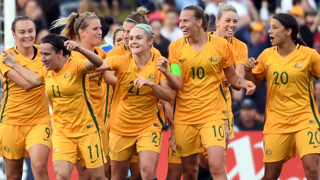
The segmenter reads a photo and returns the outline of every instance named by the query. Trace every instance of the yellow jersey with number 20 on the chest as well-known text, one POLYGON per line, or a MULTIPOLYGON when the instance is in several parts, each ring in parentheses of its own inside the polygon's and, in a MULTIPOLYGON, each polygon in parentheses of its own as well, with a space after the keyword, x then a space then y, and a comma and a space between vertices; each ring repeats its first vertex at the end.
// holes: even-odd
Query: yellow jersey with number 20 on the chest
POLYGON ((274 46, 265 49, 257 60, 252 71, 260 80, 267 80, 263 133, 319 128, 313 95, 314 76, 320 77, 320 55, 316 50, 297 44, 293 52, 282 57, 274 46))

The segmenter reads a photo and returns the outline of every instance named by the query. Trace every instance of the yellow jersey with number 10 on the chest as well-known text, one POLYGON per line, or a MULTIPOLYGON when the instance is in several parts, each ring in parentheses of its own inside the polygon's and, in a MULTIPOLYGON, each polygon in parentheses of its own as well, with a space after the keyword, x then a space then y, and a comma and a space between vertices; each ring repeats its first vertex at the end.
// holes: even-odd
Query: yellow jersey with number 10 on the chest
POLYGON ((180 38, 169 46, 170 63, 178 63, 183 85, 176 91, 174 122, 199 124, 227 119, 227 106, 222 87, 223 68, 233 64, 230 44, 221 37, 207 34, 207 42, 194 51, 188 38, 180 38))

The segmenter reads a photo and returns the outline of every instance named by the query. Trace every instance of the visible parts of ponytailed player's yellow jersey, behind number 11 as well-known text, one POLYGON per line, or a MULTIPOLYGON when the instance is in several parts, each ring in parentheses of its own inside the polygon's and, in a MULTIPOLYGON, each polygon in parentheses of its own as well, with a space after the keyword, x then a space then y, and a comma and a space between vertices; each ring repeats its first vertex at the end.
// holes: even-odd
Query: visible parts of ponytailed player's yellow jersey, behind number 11
MULTIPOLYGON (((95 53, 105 59, 107 53, 104 52, 101 48, 95 47, 95 53)), ((87 61, 87 58, 77 51, 71 51, 71 56, 74 59, 83 59, 87 61)), ((95 78, 89 79, 89 93, 90 93, 90 100, 92 105, 96 109, 96 119, 98 120, 99 126, 104 126, 103 115, 104 115, 104 106, 105 106, 105 96, 104 96, 104 88, 102 85, 103 82, 103 74, 98 75, 95 78)))

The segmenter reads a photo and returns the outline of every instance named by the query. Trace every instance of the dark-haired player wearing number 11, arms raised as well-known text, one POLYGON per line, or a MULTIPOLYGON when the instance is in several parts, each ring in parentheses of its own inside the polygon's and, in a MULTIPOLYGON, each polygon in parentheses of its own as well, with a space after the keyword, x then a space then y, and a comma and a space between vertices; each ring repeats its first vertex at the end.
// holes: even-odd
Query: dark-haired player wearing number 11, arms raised
POLYGON ((87 73, 100 66, 103 60, 95 53, 58 34, 41 40, 40 53, 44 67, 38 74, 18 64, 3 51, 3 62, 26 79, 32 88, 45 84, 53 103, 53 166, 57 180, 69 179, 74 164, 80 158, 91 180, 102 180, 105 156, 91 105, 87 73), (70 57, 69 50, 82 53, 88 60, 70 57))

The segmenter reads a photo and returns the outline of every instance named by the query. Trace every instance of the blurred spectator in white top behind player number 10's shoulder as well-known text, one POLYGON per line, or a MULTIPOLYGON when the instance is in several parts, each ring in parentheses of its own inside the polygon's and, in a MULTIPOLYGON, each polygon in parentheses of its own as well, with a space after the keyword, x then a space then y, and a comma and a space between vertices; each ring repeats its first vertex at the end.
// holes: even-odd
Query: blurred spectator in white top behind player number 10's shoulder
POLYGON ((182 31, 177 26, 178 14, 175 10, 170 10, 165 14, 164 27, 161 29, 161 35, 169 41, 174 41, 183 36, 182 31))

